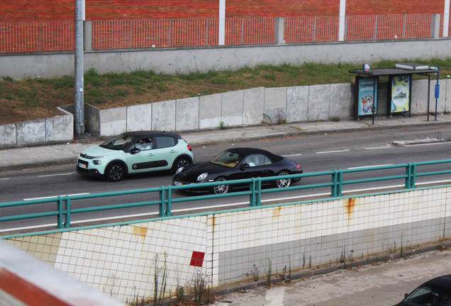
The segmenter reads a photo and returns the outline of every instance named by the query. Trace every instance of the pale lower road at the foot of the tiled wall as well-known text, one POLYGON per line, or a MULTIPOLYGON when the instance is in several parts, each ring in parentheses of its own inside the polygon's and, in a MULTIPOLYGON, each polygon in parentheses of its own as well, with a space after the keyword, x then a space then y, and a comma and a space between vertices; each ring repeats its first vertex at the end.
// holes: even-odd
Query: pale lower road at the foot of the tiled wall
POLYGON ((277 283, 269 289, 259 285, 220 295, 217 305, 389 306, 401 302, 404 293, 411 293, 425 281, 448 273, 451 273, 451 251, 429 251, 374 265, 354 266, 352 271, 342 269, 277 283))

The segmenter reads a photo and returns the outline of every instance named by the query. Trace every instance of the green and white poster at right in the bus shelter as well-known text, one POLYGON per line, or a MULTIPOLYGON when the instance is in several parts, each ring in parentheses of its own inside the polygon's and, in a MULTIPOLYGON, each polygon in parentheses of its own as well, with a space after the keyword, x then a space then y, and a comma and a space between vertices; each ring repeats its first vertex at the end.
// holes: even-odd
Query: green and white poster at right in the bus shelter
POLYGON ((391 77, 391 113, 410 111, 411 76, 391 77))

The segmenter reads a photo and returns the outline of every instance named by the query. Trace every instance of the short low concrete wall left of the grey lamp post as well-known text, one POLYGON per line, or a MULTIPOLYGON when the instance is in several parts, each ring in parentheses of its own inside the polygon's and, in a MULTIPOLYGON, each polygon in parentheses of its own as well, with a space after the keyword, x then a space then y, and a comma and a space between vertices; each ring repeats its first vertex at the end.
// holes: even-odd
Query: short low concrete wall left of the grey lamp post
POLYGON ((58 109, 66 115, 0 125, 0 147, 73 140, 74 116, 58 109))

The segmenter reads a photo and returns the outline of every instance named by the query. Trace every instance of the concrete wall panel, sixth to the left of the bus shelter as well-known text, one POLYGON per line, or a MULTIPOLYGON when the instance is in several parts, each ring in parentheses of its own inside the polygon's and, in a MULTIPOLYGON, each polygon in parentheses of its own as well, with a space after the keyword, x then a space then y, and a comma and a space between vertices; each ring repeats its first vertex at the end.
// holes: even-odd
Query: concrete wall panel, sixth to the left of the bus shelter
POLYGON ((243 98, 244 91, 229 91, 222 94, 221 121, 225 126, 243 124, 243 98))

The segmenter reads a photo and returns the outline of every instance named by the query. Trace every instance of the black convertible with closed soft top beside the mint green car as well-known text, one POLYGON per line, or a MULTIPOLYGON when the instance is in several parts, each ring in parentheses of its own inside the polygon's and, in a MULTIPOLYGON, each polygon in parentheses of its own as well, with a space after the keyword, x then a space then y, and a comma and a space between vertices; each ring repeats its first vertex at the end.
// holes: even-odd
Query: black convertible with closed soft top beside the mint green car
MULTIPOLYGON (((190 164, 180 168, 174 175, 172 185, 208 183, 213 181, 230 181, 250 179, 252 177, 286 176, 301 174, 302 168, 291 159, 272 154, 263 149, 235 148, 228 149, 213 157, 210 162, 190 164)), ((262 182, 262 186, 288 187, 299 179, 277 179, 262 182), (266 185, 263 185, 265 183, 266 185)), ((219 185, 213 188, 192 188, 192 192, 228 193, 231 189, 248 188, 243 185, 219 185)))

